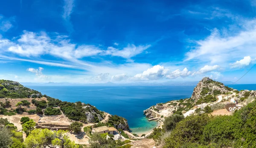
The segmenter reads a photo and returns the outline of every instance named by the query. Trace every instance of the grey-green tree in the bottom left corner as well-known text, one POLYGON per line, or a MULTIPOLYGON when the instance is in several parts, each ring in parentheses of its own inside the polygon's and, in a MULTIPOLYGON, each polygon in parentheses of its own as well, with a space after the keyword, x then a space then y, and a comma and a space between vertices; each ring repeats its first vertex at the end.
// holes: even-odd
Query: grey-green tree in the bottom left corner
POLYGON ((11 136, 9 129, 0 126, 0 148, 9 148, 12 144, 11 136))

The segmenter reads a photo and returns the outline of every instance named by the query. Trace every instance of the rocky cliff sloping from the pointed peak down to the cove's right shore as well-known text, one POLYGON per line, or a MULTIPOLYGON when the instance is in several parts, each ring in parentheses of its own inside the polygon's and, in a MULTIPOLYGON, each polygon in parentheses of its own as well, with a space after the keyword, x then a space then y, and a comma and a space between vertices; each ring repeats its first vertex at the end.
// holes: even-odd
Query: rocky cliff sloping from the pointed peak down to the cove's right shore
MULTIPOLYGON (((231 93, 231 91, 234 91, 234 89, 225 86, 223 83, 211 80, 209 77, 204 77, 196 85, 190 98, 158 103, 146 109, 143 113, 149 118, 163 118, 175 112, 178 114, 186 113, 186 111, 189 111, 195 105, 215 102, 218 100, 218 95, 225 95, 228 92, 231 93)), ((243 98, 244 94, 240 94, 240 98, 243 98)))

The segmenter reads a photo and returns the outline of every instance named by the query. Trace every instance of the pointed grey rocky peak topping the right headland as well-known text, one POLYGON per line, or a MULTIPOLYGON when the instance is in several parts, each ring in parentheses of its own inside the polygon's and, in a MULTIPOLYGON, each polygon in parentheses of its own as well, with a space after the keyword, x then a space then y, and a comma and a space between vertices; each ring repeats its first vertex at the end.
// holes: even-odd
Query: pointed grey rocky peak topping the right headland
POLYGON ((229 88, 209 77, 204 77, 194 88, 191 99, 194 100, 194 104, 214 102, 217 101, 216 96, 226 94, 228 91, 233 91, 233 88, 229 88))

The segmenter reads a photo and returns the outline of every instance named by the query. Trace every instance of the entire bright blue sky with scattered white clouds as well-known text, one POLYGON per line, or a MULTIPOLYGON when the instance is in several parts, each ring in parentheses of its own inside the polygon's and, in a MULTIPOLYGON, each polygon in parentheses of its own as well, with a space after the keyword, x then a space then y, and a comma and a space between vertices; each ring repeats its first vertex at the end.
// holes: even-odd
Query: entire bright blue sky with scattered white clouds
POLYGON ((5 0, 0 79, 235 82, 256 64, 255 16, 256 0, 5 0))

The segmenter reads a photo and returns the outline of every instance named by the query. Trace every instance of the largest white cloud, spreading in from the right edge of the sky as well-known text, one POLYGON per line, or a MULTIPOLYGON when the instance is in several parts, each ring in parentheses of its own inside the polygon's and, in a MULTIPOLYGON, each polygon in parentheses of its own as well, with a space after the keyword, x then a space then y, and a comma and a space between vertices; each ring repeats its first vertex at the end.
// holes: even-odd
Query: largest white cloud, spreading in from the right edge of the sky
POLYGON ((185 61, 228 66, 225 63, 247 55, 256 57, 256 20, 241 20, 240 23, 242 25, 236 28, 215 28, 204 40, 195 41, 196 46, 186 53, 185 61))

